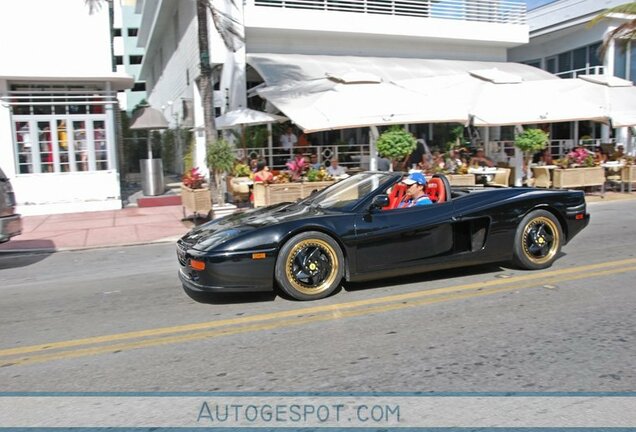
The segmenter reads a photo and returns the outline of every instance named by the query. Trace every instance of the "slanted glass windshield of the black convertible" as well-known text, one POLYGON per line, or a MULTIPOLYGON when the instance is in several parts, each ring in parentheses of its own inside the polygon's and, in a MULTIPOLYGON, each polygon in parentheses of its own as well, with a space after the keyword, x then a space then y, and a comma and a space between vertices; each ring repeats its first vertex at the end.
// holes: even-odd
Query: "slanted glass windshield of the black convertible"
POLYGON ((391 183, 394 178, 394 173, 365 172, 356 174, 310 196, 304 202, 320 208, 352 207, 378 187, 391 183))

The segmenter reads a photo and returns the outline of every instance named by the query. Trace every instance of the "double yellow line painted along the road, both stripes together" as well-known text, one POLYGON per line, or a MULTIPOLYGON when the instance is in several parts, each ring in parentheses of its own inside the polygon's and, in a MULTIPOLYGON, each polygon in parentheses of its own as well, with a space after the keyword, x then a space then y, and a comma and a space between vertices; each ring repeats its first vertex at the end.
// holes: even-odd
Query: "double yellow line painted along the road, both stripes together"
POLYGON ((636 259, 625 259, 562 270, 532 272, 505 279, 396 294, 348 303, 305 307, 240 318, 6 348, 0 349, 0 367, 42 363, 241 333, 274 330, 633 271, 636 271, 636 259))

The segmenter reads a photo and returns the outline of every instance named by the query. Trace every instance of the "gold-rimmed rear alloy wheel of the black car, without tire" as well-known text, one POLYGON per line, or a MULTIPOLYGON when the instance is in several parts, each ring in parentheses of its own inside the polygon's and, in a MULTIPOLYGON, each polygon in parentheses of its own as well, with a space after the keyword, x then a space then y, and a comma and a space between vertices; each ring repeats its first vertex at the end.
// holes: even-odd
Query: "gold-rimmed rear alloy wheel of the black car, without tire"
POLYGON ((534 264, 541 265, 554 258, 561 244, 559 227, 552 219, 539 216, 523 230, 523 253, 534 264))

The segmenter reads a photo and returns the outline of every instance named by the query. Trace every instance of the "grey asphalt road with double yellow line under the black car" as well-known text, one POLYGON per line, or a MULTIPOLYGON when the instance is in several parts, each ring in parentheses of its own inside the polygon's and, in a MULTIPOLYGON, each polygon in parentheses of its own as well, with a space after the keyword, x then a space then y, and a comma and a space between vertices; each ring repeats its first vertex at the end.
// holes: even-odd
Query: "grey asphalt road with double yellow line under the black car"
POLYGON ((548 270, 187 297, 171 244, 0 254, 3 391, 633 391, 636 201, 548 270))

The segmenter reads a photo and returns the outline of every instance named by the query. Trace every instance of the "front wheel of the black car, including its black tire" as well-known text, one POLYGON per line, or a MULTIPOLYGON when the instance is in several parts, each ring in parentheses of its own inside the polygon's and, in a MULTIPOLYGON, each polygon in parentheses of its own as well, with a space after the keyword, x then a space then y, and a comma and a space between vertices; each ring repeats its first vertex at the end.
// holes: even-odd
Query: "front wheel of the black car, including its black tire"
POLYGON ((283 245, 276 260, 276 282, 296 300, 317 300, 331 294, 342 280, 344 256, 330 236, 307 231, 283 245))

